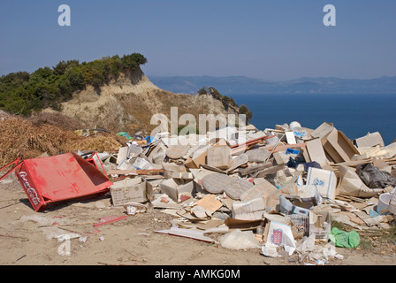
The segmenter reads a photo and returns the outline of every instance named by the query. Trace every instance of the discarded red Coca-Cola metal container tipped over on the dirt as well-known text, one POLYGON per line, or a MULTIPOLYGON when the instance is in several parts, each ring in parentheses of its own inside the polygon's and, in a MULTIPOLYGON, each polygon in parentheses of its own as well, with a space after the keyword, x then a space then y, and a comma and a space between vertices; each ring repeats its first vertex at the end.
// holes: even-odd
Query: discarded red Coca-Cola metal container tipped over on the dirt
POLYGON ((74 153, 65 153, 24 160, 15 173, 37 211, 47 203, 108 192, 112 182, 96 166, 74 153))

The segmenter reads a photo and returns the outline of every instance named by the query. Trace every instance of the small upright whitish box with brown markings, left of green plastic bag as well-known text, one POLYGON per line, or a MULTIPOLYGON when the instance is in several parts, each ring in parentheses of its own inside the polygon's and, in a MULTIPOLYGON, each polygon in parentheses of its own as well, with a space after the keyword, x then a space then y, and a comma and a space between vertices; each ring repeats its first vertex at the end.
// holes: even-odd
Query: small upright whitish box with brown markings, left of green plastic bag
POLYGON ((328 211, 309 212, 309 235, 315 234, 315 239, 328 241, 331 232, 331 217, 328 211))

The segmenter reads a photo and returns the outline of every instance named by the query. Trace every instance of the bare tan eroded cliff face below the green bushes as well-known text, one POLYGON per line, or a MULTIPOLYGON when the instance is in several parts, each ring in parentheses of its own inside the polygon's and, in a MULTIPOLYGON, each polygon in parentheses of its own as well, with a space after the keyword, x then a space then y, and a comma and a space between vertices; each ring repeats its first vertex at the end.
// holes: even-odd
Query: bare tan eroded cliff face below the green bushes
POLYGON ((217 116, 239 111, 211 95, 174 94, 157 88, 141 70, 121 73, 101 88, 88 86, 74 93, 72 100, 62 103, 61 111, 87 128, 149 134, 159 124, 150 125, 153 115, 164 114, 170 119, 171 107, 178 107, 178 117, 192 114, 197 122, 199 114, 217 116))

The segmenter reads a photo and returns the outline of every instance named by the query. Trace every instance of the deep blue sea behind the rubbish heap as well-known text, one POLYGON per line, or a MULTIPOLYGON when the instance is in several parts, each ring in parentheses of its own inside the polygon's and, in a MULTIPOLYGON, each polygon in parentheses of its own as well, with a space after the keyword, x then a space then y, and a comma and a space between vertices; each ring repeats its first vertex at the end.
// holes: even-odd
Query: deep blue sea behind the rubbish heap
POLYGON ((332 123, 353 141, 379 132, 385 145, 396 139, 396 94, 277 94, 230 95, 245 104, 253 117, 250 123, 260 130, 297 121, 316 129, 332 123))

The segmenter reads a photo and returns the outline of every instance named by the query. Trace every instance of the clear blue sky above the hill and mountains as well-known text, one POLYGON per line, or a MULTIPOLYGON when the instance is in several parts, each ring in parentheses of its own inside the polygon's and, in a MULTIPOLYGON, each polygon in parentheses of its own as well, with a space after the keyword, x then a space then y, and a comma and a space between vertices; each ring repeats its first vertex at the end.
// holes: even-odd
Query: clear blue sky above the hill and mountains
POLYGON ((148 77, 395 76, 395 11, 394 0, 2 0, 0 75, 140 52, 148 77), (57 24, 60 4, 70 27, 57 24))

